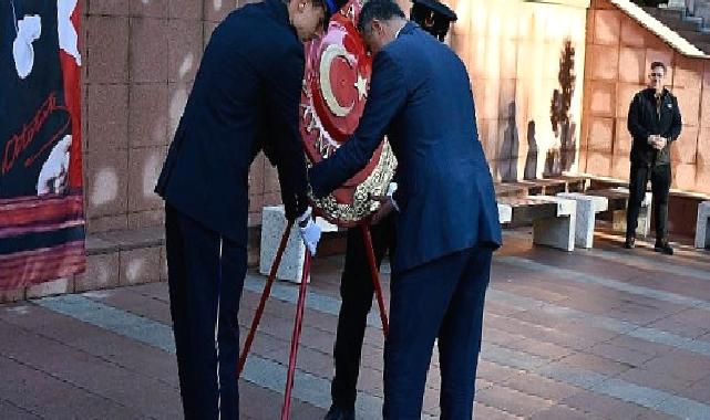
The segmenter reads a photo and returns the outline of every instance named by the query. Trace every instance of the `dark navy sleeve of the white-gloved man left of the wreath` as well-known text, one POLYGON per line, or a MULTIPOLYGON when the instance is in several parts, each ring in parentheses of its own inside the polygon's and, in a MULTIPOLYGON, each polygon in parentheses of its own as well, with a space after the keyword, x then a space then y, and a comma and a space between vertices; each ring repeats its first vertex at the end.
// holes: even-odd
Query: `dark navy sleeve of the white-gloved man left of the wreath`
POLYGON ((288 49, 279 63, 278 69, 269 69, 266 81, 270 129, 265 132, 271 138, 264 139, 264 150, 277 167, 281 200, 290 220, 308 207, 306 155, 298 125, 305 67, 302 49, 288 49))

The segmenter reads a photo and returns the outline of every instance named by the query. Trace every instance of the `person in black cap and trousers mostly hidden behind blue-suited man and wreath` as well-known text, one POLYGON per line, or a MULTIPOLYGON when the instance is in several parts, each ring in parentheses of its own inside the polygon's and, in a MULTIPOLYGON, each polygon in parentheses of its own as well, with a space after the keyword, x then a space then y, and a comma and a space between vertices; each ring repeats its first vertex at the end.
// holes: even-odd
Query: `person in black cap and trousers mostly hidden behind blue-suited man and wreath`
MULTIPOLYGON (((414 0, 410 17, 440 41, 444 41, 451 22, 456 20, 456 13, 438 0, 414 0)), ((395 182, 392 183, 391 188, 395 185, 395 182)), ((372 220, 370 233, 375 263, 381 266, 385 253, 392 259, 395 252, 395 214, 372 220)), ((373 294, 370 262, 362 231, 350 229, 344 269, 340 279, 342 303, 338 314, 338 329, 333 346, 336 371, 330 386, 332 405, 325 420, 354 419, 362 342, 373 294)))

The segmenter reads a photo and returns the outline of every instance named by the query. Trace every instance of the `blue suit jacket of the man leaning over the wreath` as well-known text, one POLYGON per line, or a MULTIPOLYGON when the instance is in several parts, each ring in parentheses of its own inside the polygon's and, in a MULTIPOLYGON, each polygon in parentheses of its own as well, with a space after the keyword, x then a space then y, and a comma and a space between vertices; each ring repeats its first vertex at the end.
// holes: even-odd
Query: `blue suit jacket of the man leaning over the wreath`
POLYGON ((329 193, 363 168, 385 134, 399 161, 393 271, 502 243, 466 69, 412 22, 374 57, 360 124, 331 158, 311 168, 313 193, 329 193))

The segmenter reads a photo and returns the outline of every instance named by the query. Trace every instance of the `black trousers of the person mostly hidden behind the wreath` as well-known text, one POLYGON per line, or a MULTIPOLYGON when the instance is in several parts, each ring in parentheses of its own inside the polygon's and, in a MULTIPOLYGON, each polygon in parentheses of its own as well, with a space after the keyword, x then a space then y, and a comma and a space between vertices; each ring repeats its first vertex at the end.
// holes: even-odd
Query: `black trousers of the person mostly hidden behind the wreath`
MULTIPOLYGON (((390 255, 394 254, 395 218, 397 216, 392 213, 371 227, 372 248, 378 266, 382 263, 388 250, 390 255)), ((332 402, 339 407, 354 408, 362 340, 373 294, 374 287, 362 230, 351 228, 348 231, 346 266, 340 280, 342 304, 333 349, 336 376, 330 386, 332 402)))

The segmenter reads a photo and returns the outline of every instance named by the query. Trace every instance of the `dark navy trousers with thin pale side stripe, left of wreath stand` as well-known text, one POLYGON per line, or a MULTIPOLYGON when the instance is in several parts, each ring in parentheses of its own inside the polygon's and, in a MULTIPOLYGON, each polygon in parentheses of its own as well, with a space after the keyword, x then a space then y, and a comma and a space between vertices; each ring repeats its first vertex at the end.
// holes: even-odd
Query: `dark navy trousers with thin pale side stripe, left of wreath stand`
POLYGON ((165 235, 185 419, 238 419, 237 313, 247 250, 169 204, 165 235))

